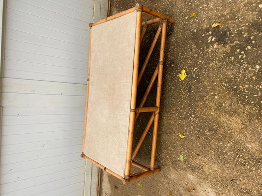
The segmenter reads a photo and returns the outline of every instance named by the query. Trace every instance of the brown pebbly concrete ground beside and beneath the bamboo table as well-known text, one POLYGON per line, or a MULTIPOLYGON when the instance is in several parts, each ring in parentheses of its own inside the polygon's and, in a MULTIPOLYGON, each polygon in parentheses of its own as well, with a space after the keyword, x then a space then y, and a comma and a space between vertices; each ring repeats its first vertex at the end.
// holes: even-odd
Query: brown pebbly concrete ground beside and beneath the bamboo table
MULTIPOLYGON (((156 154, 162 171, 126 185, 102 172, 100 195, 262 196, 262 0, 111 0, 110 14, 137 2, 175 19, 167 31, 156 154), (215 22, 222 26, 211 28, 215 22)), ((149 27, 141 63, 156 28, 149 27)), ((154 54, 139 91, 157 61, 154 54)), ((154 102, 155 90, 146 106, 154 102)), ((135 144, 147 120, 141 115, 135 144)), ((136 158, 147 166, 151 138, 150 129, 136 158)))

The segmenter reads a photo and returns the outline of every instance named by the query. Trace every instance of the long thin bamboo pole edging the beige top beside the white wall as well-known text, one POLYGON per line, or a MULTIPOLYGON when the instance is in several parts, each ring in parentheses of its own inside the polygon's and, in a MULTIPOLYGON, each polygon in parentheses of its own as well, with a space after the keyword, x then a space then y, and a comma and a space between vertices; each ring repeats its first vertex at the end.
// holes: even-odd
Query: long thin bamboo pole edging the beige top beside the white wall
POLYGON ((82 153, 84 153, 84 150, 85 150, 86 131, 87 131, 87 109, 88 109, 89 79, 90 79, 90 66, 91 66, 91 40, 92 40, 92 27, 90 26, 90 31, 89 31, 89 52, 88 52, 88 71, 87 71, 87 98, 86 98, 85 123, 84 123, 84 132, 83 132, 82 153))

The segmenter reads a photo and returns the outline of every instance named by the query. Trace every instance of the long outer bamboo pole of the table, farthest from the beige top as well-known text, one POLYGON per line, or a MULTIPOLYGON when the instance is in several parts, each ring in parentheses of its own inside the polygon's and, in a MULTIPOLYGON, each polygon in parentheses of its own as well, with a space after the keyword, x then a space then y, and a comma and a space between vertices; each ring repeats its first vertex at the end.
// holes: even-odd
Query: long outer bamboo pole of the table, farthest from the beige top
POLYGON ((160 45, 159 70, 158 70, 158 78, 157 78, 157 91, 156 91, 156 104, 155 104, 158 107, 158 111, 155 112, 155 119, 154 119, 150 170, 154 170, 154 165, 155 165, 155 152, 156 152, 157 128, 158 128, 159 107, 160 107, 160 98, 161 98, 166 31, 167 31, 167 21, 164 20, 163 28, 162 28, 162 36, 161 36, 161 45, 160 45))

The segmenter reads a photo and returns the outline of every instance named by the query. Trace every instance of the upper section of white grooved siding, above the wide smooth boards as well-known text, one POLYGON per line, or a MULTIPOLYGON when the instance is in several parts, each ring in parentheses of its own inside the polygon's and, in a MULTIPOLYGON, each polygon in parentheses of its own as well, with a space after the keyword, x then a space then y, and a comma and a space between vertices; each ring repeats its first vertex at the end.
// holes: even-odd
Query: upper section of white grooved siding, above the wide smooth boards
POLYGON ((4 77, 87 83, 93 0, 7 0, 4 77))

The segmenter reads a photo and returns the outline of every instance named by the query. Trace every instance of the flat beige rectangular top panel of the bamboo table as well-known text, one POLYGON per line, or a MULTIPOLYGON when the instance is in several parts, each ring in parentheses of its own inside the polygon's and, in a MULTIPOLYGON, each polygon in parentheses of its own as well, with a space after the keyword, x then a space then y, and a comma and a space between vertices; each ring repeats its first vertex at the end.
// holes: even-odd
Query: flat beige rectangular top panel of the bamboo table
POLYGON ((95 25, 84 154, 124 176, 137 11, 95 25))

